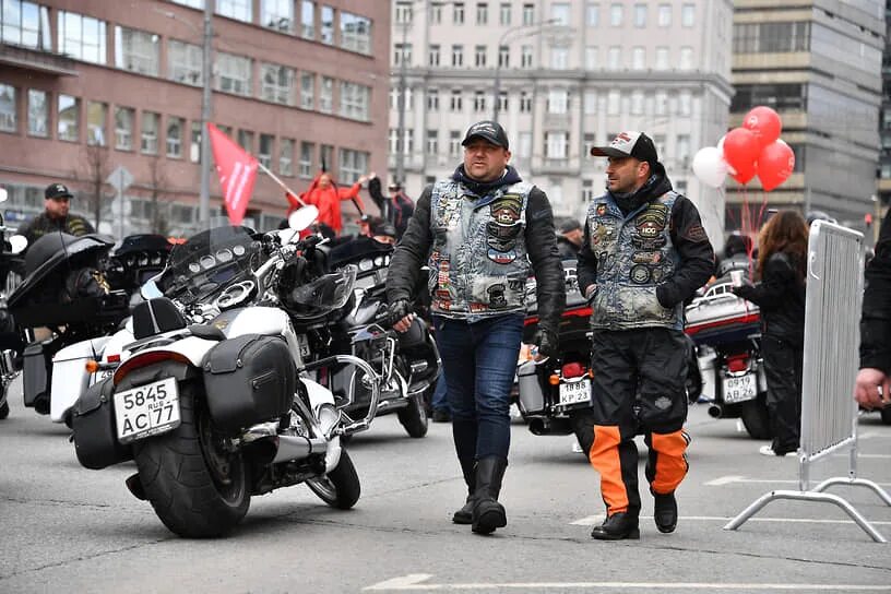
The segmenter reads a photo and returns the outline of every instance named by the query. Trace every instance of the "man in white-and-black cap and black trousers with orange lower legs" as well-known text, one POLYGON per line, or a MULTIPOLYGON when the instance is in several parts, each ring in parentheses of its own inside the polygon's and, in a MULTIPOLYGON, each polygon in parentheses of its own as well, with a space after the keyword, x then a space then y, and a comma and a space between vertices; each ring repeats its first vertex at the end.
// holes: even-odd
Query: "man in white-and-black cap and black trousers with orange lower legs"
POLYGON ((699 212, 672 190, 653 141, 622 132, 591 150, 609 159, 606 193, 591 203, 579 252, 579 288, 592 302, 594 443, 607 516, 591 536, 639 538, 638 450, 660 532, 677 525, 675 489, 687 474, 684 301, 714 270, 699 212))

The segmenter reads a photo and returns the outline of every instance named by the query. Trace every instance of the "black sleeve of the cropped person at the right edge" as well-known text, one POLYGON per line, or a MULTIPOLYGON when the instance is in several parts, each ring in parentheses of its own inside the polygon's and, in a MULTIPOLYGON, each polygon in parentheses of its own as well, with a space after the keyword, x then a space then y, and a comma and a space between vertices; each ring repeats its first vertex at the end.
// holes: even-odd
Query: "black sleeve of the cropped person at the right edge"
POLYGON ((866 268, 860 318, 860 368, 891 375, 891 216, 882 221, 876 256, 866 268))

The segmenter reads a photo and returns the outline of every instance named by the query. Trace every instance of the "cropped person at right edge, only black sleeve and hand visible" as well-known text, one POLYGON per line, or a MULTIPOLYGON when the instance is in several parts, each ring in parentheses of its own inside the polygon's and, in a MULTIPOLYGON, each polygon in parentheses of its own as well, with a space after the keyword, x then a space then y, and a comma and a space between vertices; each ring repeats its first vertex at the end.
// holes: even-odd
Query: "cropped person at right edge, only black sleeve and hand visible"
POLYGON ((882 221, 876 253, 866 269, 854 397, 869 409, 891 406, 891 216, 882 221))

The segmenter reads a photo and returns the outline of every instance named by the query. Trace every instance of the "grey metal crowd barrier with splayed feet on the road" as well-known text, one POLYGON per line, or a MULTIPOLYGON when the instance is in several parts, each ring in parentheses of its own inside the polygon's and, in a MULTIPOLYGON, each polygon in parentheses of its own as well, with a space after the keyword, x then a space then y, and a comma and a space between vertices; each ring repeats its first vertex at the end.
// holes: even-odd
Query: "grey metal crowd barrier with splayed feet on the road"
POLYGON ((863 264, 863 234, 823 221, 811 225, 798 490, 774 490, 761 496, 724 530, 738 528, 771 501, 794 499, 834 503, 874 540, 887 543, 851 503, 836 495, 822 492, 837 484, 869 487, 891 506, 891 496, 881 487, 857 477, 857 403, 853 389, 859 367, 863 264), (844 450, 851 456, 848 476, 828 478, 811 489, 811 464, 844 450))

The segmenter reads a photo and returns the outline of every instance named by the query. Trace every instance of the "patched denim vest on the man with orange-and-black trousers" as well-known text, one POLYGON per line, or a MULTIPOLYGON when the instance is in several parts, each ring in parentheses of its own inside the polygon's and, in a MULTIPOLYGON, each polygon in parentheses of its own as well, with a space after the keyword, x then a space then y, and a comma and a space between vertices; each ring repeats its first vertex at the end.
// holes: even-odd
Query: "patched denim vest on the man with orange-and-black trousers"
POLYGON ((592 329, 684 328, 684 304, 666 309, 656 299, 656 286, 680 262, 669 233, 677 198, 666 192, 627 216, 609 194, 589 207, 589 247, 597 258, 592 329))

